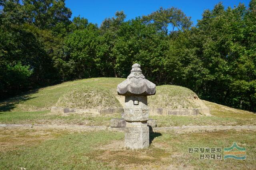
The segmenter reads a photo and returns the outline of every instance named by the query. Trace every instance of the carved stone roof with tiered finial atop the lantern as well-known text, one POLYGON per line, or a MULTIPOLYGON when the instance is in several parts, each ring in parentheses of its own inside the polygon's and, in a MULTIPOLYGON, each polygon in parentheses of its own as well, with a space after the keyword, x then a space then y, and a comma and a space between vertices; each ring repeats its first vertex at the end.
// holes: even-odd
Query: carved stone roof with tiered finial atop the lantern
POLYGON ((130 75, 118 84, 117 93, 121 96, 150 96, 156 93, 156 84, 145 78, 140 69, 140 64, 133 64, 130 75))

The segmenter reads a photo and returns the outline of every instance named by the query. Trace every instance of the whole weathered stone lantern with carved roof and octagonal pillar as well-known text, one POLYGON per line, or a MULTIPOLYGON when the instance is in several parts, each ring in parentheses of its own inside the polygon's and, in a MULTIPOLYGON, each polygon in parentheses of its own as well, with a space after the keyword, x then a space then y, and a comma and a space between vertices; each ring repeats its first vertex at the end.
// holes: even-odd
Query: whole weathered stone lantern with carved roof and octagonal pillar
POLYGON ((117 86, 118 95, 125 96, 125 146, 143 149, 149 146, 147 126, 149 108, 147 96, 156 93, 156 84, 145 79, 140 64, 133 64, 130 75, 117 86))

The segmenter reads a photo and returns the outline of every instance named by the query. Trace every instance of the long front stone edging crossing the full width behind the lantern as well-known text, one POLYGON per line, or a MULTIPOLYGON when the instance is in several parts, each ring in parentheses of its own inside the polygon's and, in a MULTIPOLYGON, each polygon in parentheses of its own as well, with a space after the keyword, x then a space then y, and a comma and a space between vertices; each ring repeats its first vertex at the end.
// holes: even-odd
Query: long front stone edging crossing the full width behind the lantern
MULTIPOLYGON (((120 131, 124 132, 124 127, 106 127, 106 126, 80 126, 80 125, 16 125, 16 124, 0 124, 0 128, 27 128, 27 129, 74 129, 84 131, 120 131)), ((256 126, 173 126, 173 127, 153 127, 154 132, 197 132, 197 131, 218 131, 218 130, 254 130, 256 126)))

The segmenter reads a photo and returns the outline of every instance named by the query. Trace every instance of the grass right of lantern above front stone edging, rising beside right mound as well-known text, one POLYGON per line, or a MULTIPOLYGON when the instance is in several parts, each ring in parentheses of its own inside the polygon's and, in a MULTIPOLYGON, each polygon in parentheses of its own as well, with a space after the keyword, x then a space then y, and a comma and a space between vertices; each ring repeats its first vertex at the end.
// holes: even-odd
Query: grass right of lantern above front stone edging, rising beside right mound
POLYGON ((157 120, 158 127, 182 125, 256 125, 256 114, 240 109, 203 101, 210 108, 212 116, 150 116, 157 120))

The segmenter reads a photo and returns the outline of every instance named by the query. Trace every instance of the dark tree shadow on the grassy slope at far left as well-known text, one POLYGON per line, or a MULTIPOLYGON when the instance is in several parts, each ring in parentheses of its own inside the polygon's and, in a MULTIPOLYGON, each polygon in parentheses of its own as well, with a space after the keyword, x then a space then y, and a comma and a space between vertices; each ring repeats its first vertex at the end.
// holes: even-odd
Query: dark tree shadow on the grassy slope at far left
POLYGON ((38 90, 30 90, 29 92, 22 94, 21 96, 9 98, 3 101, 0 101, 0 111, 11 111, 16 107, 16 104, 25 102, 36 97, 30 97, 31 94, 37 93, 38 90))

